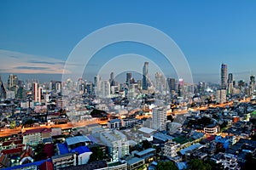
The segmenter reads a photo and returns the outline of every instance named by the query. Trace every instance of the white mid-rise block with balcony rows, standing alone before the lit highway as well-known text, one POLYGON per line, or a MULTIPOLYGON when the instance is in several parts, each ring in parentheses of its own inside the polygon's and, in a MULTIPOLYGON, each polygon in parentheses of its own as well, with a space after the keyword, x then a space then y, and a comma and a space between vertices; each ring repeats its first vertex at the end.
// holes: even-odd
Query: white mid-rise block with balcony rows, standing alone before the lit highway
POLYGON ((152 128, 166 130, 167 110, 163 107, 154 107, 152 110, 152 128))

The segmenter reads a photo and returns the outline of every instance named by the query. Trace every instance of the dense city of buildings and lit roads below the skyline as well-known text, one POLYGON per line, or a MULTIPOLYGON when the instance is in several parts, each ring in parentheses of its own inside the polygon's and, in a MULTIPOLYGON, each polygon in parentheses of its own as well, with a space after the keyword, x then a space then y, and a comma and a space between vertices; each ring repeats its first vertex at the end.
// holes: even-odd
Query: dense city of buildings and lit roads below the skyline
POLYGON ((3 169, 252 169, 255 77, 0 80, 3 169))

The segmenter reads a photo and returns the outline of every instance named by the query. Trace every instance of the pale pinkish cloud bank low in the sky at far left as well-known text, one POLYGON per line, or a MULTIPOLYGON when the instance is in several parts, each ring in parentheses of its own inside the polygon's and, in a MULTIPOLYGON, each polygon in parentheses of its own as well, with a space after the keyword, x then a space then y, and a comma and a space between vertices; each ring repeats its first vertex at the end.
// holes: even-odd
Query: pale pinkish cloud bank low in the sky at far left
MULTIPOLYGON (((62 74, 65 60, 0 49, 2 73, 62 74)), ((65 71, 69 72, 69 71, 65 71)))

